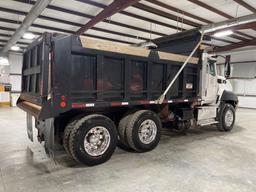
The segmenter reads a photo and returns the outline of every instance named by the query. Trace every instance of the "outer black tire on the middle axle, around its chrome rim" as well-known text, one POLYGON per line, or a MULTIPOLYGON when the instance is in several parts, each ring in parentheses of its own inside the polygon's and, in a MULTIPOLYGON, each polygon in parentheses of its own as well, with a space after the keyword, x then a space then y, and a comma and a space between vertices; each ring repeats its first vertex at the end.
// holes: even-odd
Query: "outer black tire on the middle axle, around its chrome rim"
POLYGON ((156 113, 150 110, 140 110, 135 112, 127 124, 126 137, 129 146, 137 152, 153 150, 159 143, 161 137, 162 123, 156 113), (150 143, 144 143, 139 138, 139 129, 145 120, 152 120, 156 125, 155 137, 150 143))

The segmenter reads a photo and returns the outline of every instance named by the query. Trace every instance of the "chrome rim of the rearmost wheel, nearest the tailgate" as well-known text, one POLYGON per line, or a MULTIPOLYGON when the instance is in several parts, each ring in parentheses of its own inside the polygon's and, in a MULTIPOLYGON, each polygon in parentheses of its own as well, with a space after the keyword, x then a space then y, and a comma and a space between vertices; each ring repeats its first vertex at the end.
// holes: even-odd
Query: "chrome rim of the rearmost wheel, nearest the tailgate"
POLYGON ((110 144, 110 133, 107 128, 97 126, 91 128, 84 138, 84 149, 91 156, 105 153, 110 144))

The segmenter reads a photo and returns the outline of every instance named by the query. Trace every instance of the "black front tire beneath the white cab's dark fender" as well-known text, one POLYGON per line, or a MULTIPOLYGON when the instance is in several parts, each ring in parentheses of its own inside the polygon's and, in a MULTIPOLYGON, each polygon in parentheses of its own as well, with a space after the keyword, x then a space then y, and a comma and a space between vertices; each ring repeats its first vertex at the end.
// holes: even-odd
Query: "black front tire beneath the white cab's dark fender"
POLYGON ((217 124, 217 128, 219 131, 231 131, 234 127, 234 124, 235 124, 235 118, 236 118, 236 115, 235 115, 235 109, 234 107, 229 104, 229 103, 224 103, 222 106, 221 106, 221 109, 219 111, 219 123, 217 124), (225 117, 227 115, 227 113, 231 114, 232 115, 232 118, 233 118, 233 121, 232 123, 228 124, 227 121, 225 121, 225 117))

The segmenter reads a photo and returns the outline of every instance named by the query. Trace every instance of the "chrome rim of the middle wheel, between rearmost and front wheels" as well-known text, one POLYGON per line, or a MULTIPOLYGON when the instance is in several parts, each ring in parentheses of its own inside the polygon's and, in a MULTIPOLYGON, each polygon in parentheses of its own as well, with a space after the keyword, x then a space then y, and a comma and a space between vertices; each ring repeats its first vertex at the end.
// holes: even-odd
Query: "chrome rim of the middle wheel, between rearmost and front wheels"
POLYGON ((156 138, 157 126, 156 123, 147 119, 143 121, 139 128, 139 139, 143 144, 149 144, 156 138))

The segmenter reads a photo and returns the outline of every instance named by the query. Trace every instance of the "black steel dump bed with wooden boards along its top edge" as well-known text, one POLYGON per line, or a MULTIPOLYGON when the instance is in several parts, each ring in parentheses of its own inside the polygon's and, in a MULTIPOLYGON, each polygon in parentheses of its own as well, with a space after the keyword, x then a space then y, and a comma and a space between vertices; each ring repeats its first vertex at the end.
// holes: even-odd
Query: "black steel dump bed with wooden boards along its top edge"
MULTIPOLYGON (((154 104, 199 38, 195 33, 179 41, 170 38, 162 43, 160 39, 158 49, 144 51, 45 33, 24 52, 22 93, 17 104, 38 119, 71 109, 154 104)), ((200 55, 197 51, 164 102, 197 99, 200 55)))

